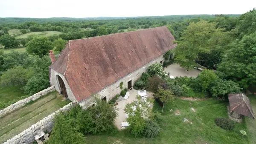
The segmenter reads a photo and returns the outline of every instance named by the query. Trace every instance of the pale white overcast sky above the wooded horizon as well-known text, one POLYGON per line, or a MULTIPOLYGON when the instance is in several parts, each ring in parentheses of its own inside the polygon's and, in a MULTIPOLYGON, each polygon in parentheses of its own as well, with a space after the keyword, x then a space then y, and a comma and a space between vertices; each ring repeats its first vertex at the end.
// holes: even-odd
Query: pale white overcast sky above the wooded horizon
POLYGON ((0 0, 0 17, 136 17, 243 14, 256 0, 0 0))

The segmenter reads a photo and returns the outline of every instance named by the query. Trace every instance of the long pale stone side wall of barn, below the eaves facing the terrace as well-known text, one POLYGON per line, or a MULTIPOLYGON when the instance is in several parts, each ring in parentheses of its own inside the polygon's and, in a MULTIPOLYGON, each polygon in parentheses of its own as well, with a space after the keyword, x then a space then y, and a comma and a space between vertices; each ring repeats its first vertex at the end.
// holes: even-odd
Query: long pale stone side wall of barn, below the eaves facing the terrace
MULTIPOLYGON (((148 67, 154 63, 160 63, 160 61, 164 61, 163 55, 152 60, 151 62, 145 64, 144 66, 140 67, 139 69, 135 70, 134 72, 126 75, 124 78, 119 79, 115 83, 111 84, 110 86, 105 87, 101 91, 97 92, 96 94, 100 95, 102 98, 106 97, 107 101, 110 101, 115 95, 120 94, 121 88, 120 83, 123 82, 123 89, 128 87, 128 81, 132 82, 132 86, 134 86, 135 81, 141 77, 143 72, 146 72, 148 67)), ((90 102, 90 98, 79 103, 80 106, 83 108, 90 107, 93 103, 90 102)))

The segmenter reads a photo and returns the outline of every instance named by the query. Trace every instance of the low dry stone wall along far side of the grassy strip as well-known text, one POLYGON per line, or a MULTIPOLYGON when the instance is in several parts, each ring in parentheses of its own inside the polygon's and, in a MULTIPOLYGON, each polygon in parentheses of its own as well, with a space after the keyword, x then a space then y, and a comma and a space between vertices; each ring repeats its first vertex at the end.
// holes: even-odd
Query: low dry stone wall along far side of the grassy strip
POLYGON ((27 104, 29 101, 35 101, 38 98, 40 98, 43 95, 46 95, 49 92, 54 91, 54 86, 48 87, 47 89, 42 90, 41 92, 38 92, 28 98, 24 98, 23 100, 17 101, 15 104, 11 104, 8 107, 0 110, 0 117, 14 111, 15 109, 18 109, 20 107, 23 107, 25 104, 27 104))

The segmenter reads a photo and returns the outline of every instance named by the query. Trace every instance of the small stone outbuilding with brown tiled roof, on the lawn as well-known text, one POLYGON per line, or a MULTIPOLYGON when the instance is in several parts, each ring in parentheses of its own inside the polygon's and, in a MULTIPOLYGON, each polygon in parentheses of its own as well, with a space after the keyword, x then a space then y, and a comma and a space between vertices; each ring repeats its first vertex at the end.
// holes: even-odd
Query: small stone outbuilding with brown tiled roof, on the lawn
POLYGON ((230 119, 241 122, 242 115, 255 119, 250 100, 246 95, 243 93, 230 93, 228 100, 230 103, 230 107, 228 107, 230 119))

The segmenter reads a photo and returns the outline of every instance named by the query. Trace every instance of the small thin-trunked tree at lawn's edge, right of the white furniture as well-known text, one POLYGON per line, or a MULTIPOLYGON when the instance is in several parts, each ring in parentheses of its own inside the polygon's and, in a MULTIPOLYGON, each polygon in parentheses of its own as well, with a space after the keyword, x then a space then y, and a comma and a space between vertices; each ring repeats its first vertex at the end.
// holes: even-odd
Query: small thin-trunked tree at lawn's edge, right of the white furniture
MULTIPOLYGON (((174 100, 174 95, 170 89, 165 90, 165 89, 159 87, 157 90, 157 93, 155 94, 155 98, 157 98, 159 101, 161 101, 163 104, 163 107, 164 107, 164 104, 166 102, 174 100)), ((163 108, 162 108, 162 112, 163 112, 163 108)))

